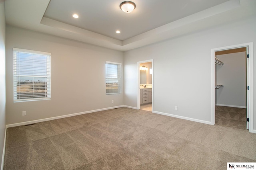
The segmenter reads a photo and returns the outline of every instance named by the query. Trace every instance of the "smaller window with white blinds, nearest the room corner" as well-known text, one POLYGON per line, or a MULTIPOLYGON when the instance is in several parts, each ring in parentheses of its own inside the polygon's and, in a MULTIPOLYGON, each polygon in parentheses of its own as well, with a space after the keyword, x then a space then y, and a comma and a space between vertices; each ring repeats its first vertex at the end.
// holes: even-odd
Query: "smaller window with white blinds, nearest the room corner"
POLYGON ((106 61, 106 94, 121 93, 121 63, 106 61))

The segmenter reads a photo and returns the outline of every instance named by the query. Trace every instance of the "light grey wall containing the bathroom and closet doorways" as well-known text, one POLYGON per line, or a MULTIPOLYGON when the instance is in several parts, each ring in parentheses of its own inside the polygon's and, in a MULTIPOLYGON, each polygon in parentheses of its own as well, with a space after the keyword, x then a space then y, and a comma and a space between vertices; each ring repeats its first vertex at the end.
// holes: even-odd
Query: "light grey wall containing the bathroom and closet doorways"
POLYGON ((129 95, 124 96, 124 104, 137 107, 137 62, 153 59, 154 112, 211 123, 211 50, 254 42, 255 53, 255 28, 256 16, 251 16, 124 52, 124 86, 129 87, 125 88, 129 95))

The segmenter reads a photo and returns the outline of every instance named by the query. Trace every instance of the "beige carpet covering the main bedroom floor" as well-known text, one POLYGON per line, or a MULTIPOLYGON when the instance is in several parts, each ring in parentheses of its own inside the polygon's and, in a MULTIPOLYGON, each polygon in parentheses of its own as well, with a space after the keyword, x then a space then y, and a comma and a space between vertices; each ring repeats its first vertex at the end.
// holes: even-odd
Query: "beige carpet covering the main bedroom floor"
POLYGON ((7 129, 4 170, 226 170, 256 134, 126 107, 7 129))

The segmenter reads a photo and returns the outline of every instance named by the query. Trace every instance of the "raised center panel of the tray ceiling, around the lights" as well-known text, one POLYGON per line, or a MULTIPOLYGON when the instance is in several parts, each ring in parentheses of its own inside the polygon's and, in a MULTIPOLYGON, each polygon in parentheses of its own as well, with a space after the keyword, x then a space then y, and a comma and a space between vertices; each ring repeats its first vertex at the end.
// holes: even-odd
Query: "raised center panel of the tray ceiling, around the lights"
POLYGON ((122 0, 51 0, 44 17, 123 41, 226 1, 133 0, 135 10, 125 13, 122 0))

